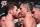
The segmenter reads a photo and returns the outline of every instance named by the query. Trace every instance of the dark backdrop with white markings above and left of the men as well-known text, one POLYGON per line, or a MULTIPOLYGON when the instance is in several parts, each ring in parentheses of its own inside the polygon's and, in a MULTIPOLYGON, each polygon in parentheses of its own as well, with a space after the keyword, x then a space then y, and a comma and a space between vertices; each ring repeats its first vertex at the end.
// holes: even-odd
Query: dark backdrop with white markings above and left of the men
POLYGON ((16 2, 17 5, 18 5, 19 3, 24 2, 24 1, 30 1, 33 6, 34 6, 35 4, 40 3, 39 0, 1 0, 0 17, 2 17, 2 16, 5 14, 5 7, 4 7, 4 6, 5 6, 8 2, 16 2))

